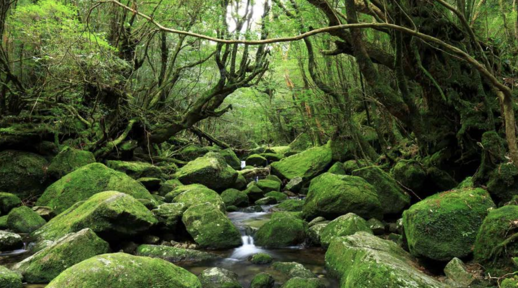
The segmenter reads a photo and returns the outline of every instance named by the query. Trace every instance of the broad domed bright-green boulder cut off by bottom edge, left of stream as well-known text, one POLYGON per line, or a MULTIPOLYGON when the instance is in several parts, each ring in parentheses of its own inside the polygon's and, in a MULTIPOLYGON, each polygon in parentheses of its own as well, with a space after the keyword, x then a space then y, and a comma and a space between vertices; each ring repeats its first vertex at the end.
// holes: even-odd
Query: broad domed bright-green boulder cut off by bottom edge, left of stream
POLYGON ((103 254, 80 262, 46 288, 201 288, 191 272, 158 258, 103 254))

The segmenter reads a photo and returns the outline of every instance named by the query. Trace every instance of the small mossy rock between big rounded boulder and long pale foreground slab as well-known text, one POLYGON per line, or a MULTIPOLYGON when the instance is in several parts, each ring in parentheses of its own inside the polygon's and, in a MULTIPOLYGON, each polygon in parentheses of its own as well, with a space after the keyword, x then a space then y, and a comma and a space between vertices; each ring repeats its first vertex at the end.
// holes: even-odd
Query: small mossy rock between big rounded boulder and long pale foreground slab
POLYGON ((353 235, 356 232, 364 231, 373 234, 367 221, 354 213, 347 213, 329 222, 320 233, 320 243, 327 248, 329 243, 336 237, 353 235))

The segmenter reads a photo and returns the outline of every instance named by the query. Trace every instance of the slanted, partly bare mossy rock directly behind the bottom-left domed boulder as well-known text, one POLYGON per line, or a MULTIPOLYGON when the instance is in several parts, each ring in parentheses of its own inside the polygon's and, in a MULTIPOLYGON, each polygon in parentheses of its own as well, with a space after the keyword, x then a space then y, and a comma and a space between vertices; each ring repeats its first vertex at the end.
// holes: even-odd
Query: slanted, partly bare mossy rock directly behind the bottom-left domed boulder
POLYGON ((26 282, 48 283, 68 267, 110 251, 106 241, 89 228, 70 233, 13 266, 26 282))

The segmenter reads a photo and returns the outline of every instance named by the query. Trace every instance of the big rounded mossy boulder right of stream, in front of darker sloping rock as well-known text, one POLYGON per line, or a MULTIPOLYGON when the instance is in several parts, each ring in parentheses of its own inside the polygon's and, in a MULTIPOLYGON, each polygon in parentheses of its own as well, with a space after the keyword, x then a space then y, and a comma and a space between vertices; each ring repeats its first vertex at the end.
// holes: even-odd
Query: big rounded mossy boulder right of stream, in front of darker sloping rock
POLYGON ((359 177, 331 173, 311 180, 303 208, 306 219, 335 219, 350 212, 367 219, 382 219, 378 193, 371 184, 359 177))

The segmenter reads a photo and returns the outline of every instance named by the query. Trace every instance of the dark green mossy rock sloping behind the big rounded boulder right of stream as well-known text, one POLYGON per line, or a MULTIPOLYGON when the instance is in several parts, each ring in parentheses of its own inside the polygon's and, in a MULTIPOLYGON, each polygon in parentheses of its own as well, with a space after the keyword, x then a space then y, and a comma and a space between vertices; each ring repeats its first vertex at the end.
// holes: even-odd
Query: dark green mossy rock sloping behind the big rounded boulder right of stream
POLYGON ((384 214, 400 213, 405 207, 410 205, 410 195, 399 187, 394 178, 378 166, 354 170, 352 175, 365 179, 376 188, 378 198, 383 204, 381 208, 384 214))

